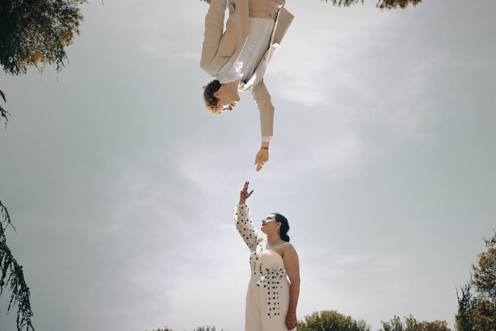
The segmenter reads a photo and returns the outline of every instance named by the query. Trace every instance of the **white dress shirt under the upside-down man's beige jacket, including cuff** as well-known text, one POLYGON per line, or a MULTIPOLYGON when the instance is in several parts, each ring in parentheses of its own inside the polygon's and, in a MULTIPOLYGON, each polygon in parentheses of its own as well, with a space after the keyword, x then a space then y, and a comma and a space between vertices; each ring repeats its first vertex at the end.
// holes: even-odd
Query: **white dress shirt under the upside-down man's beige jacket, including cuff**
MULTIPOLYGON (((275 21, 269 18, 249 18, 249 32, 245 47, 233 67, 223 78, 219 79, 221 84, 231 83, 238 79, 245 83, 251 77, 269 49, 274 23, 275 21)), ((262 135, 262 141, 270 141, 270 136, 262 135)))

